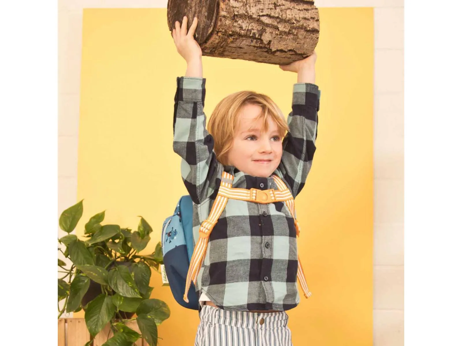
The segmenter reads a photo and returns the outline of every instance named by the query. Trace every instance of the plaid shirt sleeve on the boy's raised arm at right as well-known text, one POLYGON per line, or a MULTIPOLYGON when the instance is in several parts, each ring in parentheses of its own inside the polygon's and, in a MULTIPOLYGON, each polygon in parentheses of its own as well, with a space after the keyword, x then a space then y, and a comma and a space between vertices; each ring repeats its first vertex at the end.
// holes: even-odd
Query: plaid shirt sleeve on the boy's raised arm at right
POLYGON ((292 112, 287 118, 289 132, 283 141, 283 153, 278 167, 293 197, 305 185, 316 150, 320 97, 321 91, 315 84, 297 83, 293 86, 292 112))

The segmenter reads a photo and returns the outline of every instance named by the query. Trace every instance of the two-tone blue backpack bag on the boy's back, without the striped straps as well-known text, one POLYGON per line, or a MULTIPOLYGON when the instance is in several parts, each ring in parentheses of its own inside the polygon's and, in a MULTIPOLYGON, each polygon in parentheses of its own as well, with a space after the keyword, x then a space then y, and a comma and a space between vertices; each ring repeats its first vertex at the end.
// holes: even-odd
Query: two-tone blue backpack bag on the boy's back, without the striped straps
POLYGON ((165 219, 161 242, 165 273, 173 297, 185 308, 199 310, 199 297, 195 285, 189 288, 189 303, 183 300, 189 262, 194 251, 193 201, 189 195, 182 196, 176 205, 175 213, 165 219))

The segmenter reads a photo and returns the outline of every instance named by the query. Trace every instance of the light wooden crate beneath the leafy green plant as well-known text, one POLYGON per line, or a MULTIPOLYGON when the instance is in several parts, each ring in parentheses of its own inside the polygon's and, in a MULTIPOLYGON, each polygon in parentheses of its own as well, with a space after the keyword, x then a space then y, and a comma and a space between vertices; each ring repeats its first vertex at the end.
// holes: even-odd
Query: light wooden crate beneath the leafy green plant
MULTIPOLYGON (((127 327, 140 333, 136 321, 127 323, 127 327)), ((141 334, 141 333, 140 333, 141 334)), ((112 337, 109 323, 93 339, 92 346, 101 346, 112 337)), ((58 320, 58 346, 85 346, 90 341, 90 333, 86 328, 84 318, 60 318, 58 320)), ((136 346, 148 346, 143 339, 138 339, 136 346)))

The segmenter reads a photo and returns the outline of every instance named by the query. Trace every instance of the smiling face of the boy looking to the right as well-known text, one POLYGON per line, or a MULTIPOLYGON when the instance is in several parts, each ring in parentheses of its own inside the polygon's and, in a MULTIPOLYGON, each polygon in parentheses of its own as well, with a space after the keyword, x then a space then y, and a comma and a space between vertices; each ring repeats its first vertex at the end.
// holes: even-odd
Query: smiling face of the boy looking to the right
POLYGON ((239 125, 228 151, 228 162, 241 172, 255 177, 269 177, 279 166, 282 138, 273 119, 263 132, 263 120, 255 120, 261 113, 257 105, 245 105, 239 113, 239 125))

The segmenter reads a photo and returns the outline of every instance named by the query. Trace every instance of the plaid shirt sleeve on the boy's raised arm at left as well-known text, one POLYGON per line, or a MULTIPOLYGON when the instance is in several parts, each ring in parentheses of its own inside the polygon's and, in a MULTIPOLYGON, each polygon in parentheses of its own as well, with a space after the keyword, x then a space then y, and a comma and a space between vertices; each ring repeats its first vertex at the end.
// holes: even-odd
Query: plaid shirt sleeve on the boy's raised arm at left
MULTIPOLYGON (((173 150, 180 155, 181 175, 194 203, 215 191, 221 165, 213 151, 213 137, 206 130, 205 78, 176 78, 173 114, 173 150)), ((223 170, 223 168, 221 168, 223 170)))

